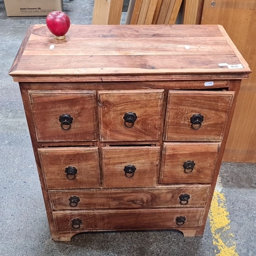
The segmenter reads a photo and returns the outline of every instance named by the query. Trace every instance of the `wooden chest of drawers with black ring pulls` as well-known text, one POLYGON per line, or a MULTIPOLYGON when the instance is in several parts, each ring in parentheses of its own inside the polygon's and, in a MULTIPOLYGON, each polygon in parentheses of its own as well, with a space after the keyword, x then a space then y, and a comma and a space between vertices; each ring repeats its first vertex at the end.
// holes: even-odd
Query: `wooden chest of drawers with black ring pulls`
POLYGON ((52 239, 202 236, 241 79, 221 26, 31 27, 19 82, 52 239), (51 47, 50 47, 51 46, 51 47))

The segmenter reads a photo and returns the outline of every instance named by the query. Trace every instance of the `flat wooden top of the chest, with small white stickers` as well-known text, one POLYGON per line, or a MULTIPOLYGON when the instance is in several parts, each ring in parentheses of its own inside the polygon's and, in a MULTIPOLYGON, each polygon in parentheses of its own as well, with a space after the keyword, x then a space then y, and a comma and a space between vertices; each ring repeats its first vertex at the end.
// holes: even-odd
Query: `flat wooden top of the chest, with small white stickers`
POLYGON ((250 72, 220 25, 72 25, 64 40, 34 25, 9 74, 14 81, 102 81, 239 79, 250 72))

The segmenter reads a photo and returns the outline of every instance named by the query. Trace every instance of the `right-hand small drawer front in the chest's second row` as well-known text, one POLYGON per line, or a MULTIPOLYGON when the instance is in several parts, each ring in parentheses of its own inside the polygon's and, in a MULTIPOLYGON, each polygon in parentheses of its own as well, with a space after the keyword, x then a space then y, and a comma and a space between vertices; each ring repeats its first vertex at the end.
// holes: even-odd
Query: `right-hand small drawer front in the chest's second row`
POLYGON ((164 143, 160 184, 210 183, 220 143, 164 143))

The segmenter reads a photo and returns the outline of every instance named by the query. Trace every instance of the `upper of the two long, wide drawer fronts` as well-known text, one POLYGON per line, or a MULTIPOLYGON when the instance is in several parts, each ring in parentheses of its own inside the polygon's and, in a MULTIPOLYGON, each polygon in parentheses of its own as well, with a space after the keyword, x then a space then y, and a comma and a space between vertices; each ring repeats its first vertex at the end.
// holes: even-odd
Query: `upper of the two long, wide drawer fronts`
POLYGON ((54 210, 205 206, 209 185, 50 191, 54 210))

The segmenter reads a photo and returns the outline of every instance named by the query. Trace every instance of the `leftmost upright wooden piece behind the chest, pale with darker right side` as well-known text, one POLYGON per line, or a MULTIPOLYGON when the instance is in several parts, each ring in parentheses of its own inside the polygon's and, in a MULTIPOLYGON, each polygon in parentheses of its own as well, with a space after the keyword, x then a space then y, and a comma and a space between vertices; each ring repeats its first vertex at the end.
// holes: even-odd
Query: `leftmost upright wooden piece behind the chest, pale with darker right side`
POLYGON ((123 0, 95 0, 93 9, 94 25, 119 25, 123 0))

